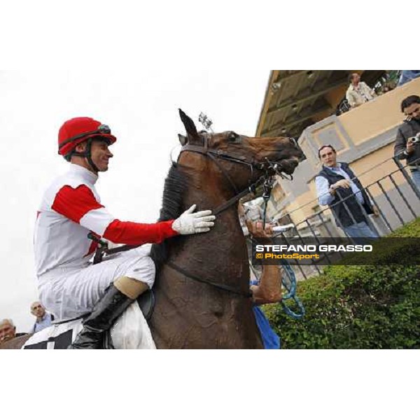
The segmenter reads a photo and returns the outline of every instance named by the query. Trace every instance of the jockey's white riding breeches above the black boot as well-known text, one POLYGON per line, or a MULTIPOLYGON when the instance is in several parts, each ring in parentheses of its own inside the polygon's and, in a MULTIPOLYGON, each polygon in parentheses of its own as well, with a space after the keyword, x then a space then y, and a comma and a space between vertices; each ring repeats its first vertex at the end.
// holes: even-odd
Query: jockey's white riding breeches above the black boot
POLYGON ((155 281, 150 246, 111 255, 85 268, 57 268, 38 278, 39 297, 45 308, 60 320, 92 311, 94 304, 116 279, 127 276, 147 283, 155 281))

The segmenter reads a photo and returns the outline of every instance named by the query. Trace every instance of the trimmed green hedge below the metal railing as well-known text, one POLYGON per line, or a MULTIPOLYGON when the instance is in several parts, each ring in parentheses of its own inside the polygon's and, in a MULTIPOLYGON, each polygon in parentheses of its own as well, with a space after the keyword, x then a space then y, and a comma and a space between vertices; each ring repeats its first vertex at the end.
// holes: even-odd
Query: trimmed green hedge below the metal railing
MULTIPOLYGON (((420 236, 420 219, 392 236, 420 236)), ((420 266, 328 267, 300 281, 297 295, 301 321, 264 307, 283 349, 420 349, 420 266)))

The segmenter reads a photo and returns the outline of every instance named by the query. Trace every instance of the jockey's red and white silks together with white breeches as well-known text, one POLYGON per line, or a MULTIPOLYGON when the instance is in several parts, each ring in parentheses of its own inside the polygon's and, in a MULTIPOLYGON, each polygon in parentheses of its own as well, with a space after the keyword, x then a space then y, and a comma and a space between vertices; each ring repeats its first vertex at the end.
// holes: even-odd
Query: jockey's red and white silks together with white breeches
POLYGON ((71 164, 43 195, 34 233, 38 290, 45 308, 57 318, 80 316, 92 310, 104 290, 120 276, 148 283, 155 266, 148 247, 137 248, 91 265, 97 243, 92 232, 117 244, 152 244, 178 235, 173 221, 133 223, 119 221, 100 204, 94 188, 97 175, 71 164))

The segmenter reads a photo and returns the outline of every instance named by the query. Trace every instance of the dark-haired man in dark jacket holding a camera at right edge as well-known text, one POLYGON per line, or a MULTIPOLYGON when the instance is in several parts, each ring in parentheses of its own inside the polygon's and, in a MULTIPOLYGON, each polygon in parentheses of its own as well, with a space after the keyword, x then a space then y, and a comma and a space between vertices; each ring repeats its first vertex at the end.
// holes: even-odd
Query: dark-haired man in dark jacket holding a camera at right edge
POLYGON ((420 97, 412 94, 401 102, 401 111, 406 118, 398 127, 394 155, 406 159, 412 173, 412 179, 420 190, 420 97))

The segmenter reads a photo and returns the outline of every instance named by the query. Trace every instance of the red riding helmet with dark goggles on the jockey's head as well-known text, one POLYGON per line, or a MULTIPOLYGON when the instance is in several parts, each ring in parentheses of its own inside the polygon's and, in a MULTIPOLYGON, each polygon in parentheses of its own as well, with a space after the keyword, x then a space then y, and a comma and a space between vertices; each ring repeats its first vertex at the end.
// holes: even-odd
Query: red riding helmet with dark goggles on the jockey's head
POLYGON ((66 121, 58 132, 58 154, 69 160, 70 153, 76 146, 92 137, 102 137, 109 144, 116 142, 117 138, 111 134, 108 125, 99 123, 89 117, 72 118, 66 121))

